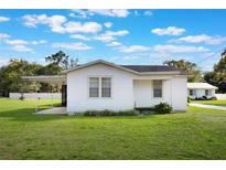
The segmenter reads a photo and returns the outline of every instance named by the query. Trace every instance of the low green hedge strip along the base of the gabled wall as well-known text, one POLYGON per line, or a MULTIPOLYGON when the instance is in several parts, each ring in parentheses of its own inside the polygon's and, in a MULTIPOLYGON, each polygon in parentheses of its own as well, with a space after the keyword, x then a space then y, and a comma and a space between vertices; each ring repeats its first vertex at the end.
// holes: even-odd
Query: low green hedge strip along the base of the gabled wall
POLYGON ((85 113, 82 113, 84 116, 138 116, 140 113, 138 110, 131 109, 131 110, 87 110, 85 113))

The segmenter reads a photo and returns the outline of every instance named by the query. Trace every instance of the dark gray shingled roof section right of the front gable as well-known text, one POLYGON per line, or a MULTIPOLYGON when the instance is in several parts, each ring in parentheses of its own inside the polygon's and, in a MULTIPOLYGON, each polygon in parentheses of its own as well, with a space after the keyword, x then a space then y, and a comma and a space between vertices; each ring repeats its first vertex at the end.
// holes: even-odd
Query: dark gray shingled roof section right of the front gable
POLYGON ((120 65, 122 67, 136 71, 136 72, 177 72, 180 71, 181 74, 186 74, 185 71, 181 71, 179 68, 175 68, 173 66, 166 66, 166 65, 120 65))

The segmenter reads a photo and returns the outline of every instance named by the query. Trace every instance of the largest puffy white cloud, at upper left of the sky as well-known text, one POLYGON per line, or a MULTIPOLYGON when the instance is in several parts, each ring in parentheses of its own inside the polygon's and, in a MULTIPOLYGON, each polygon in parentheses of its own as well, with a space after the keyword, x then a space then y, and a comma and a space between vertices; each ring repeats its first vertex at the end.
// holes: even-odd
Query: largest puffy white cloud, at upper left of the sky
POLYGON ((96 33, 101 31, 101 25, 97 22, 67 22, 64 15, 32 14, 23 17, 26 26, 36 28, 37 24, 46 24, 56 33, 96 33))

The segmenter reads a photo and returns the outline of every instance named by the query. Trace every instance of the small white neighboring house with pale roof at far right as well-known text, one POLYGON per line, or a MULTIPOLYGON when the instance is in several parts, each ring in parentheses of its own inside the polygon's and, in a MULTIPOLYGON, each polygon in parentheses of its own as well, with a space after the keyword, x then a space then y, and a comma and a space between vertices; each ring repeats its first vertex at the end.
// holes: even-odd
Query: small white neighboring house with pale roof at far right
POLYGON ((208 83, 187 83, 187 94, 191 98, 206 98, 215 97, 216 86, 208 83))

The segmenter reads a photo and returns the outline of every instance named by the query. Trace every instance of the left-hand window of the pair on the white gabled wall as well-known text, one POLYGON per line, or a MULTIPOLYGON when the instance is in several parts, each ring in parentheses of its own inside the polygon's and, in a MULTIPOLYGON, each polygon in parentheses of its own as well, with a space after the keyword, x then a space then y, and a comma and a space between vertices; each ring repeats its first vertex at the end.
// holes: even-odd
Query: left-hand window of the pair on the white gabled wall
POLYGON ((89 97, 99 97, 99 78, 89 78, 89 97))

